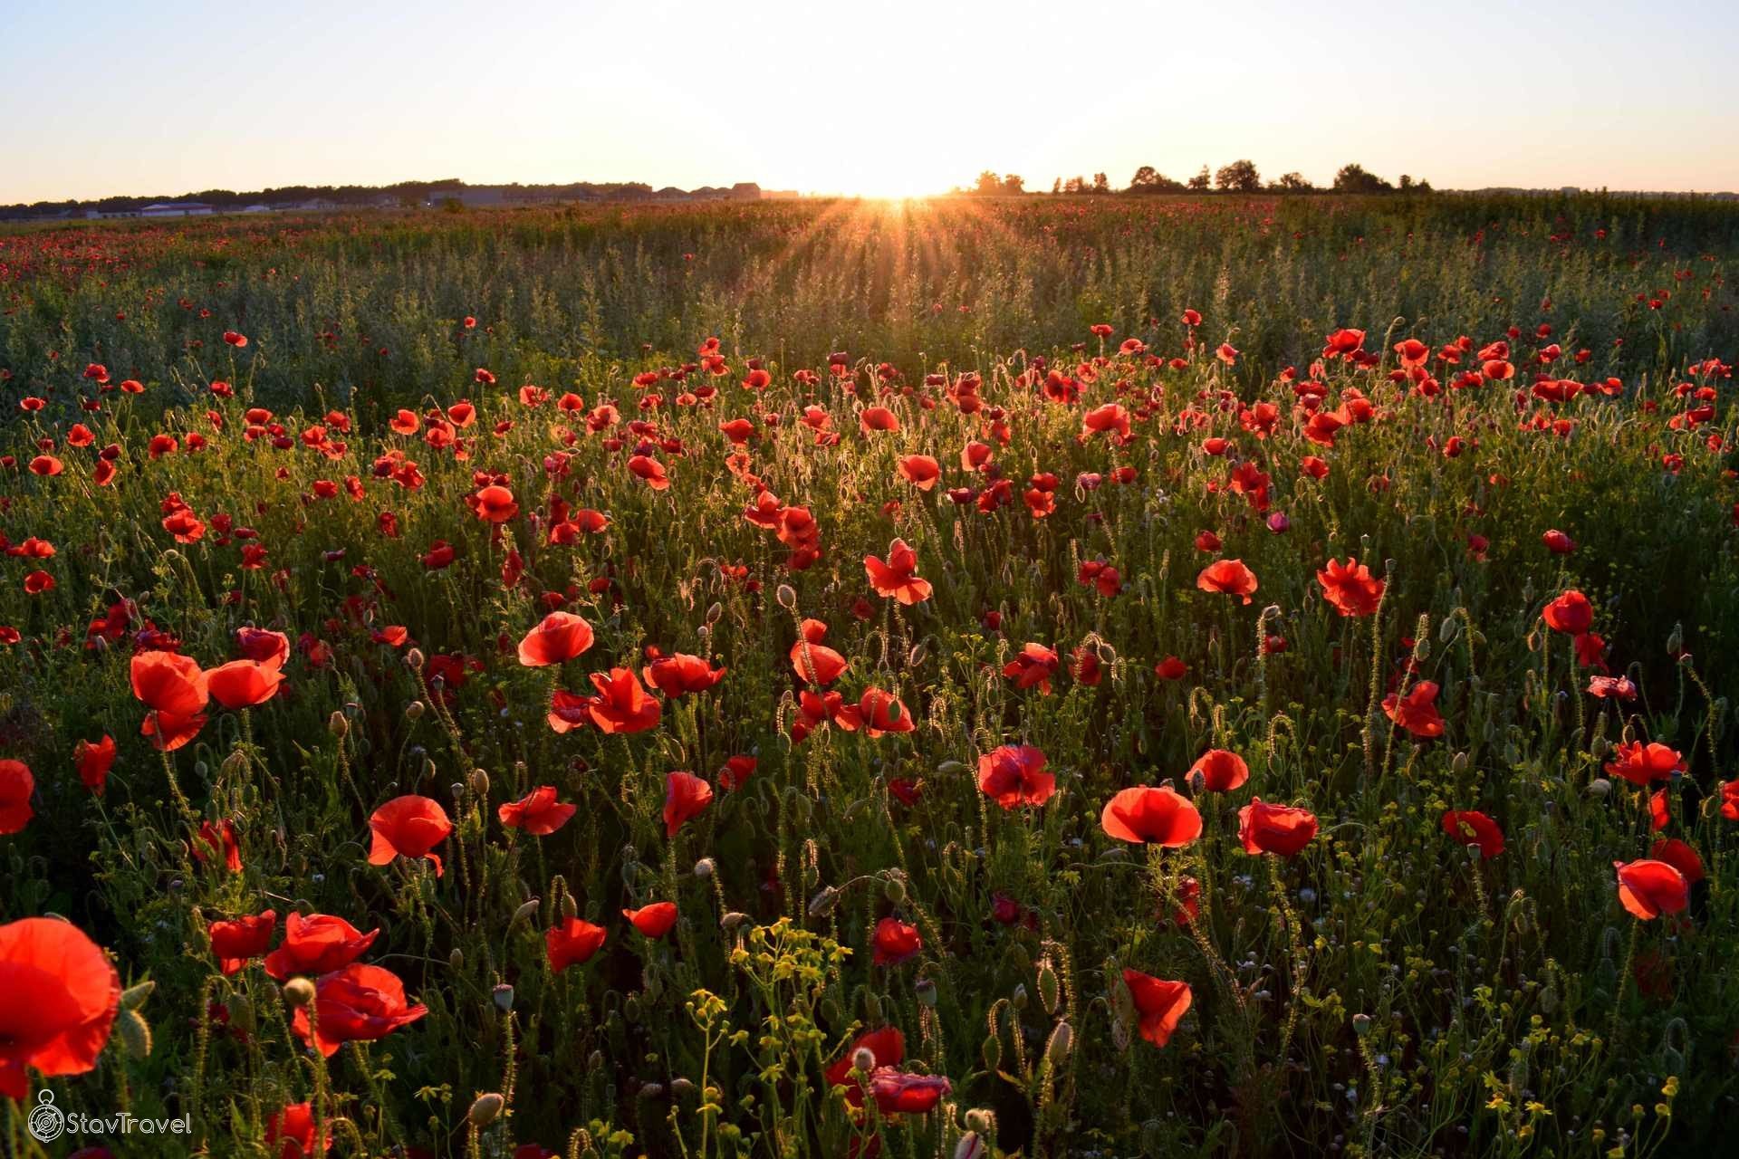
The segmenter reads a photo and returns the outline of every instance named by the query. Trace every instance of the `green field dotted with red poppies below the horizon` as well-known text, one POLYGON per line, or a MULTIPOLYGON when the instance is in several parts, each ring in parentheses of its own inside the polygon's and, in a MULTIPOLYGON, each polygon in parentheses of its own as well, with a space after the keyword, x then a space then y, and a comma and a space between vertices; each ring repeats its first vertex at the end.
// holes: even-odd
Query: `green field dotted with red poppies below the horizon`
POLYGON ((1596 196, 0 233, 0 1150, 1720 1154, 1736 262, 1596 196))

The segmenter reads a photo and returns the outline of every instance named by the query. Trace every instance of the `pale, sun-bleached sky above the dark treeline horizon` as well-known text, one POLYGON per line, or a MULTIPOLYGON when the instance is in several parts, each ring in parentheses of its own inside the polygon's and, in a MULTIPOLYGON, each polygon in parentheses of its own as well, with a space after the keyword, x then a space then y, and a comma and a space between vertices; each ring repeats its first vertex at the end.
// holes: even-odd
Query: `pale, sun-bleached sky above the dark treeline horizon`
POLYGON ((1318 184, 1356 160, 1739 189, 1736 50, 1732 0, 0 0, 0 203, 435 177, 916 195, 1242 156, 1318 184))

